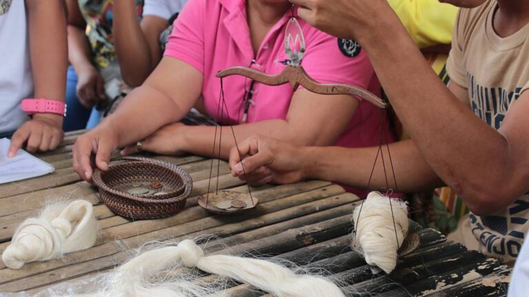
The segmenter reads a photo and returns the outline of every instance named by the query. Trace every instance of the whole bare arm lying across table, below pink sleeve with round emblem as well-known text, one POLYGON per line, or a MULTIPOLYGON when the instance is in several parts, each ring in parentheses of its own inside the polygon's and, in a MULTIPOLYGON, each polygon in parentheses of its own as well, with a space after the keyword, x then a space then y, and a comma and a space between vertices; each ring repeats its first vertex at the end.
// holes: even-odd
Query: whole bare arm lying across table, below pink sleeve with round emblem
MULTIPOLYGON (((238 142, 251 135, 260 134, 274 137, 298 145, 326 146, 338 140, 345 127, 351 121, 359 101, 350 96, 322 96, 306 89, 295 92, 287 118, 284 120, 267 120, 236 126, 222 127, 217 131, 217 145, 220 142, 220 157, 227 159, 229 151, 238 142)), ((194 153, 211 155, 215 139, 214 126, 185 126, 172 124, 166 126, 142 142, 142 148, 162 154, 194 153)), ((135 153, 130 146, 124 153, 135 153)), ((218 148, 216 148, 216 155, 218 148)))

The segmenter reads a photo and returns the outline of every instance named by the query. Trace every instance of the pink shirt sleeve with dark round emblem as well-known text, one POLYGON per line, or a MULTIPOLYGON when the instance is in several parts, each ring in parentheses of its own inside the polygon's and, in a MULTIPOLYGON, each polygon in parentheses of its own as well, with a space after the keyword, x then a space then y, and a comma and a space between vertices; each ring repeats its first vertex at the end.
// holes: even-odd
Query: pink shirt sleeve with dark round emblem
POLYGON ((307 54, 302 66, 311 78, 319 83, 369 88, 375 71, 358 43, 337 39, 312 27, 307 31, 307 54))

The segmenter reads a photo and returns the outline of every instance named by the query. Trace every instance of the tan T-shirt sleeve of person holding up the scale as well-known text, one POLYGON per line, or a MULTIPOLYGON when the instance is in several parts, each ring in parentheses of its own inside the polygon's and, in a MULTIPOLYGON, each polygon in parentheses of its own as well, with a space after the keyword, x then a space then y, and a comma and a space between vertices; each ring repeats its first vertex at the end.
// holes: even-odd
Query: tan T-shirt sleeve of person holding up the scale
POLYGON ((452 50, 450 50, 448 61, 446 61, 446 72, 450 80, 461 87, 466 87, 468 78, 464 65, 464 25, 461 21, 462 17, 463 10, 459 12, 455 23, 452 50))

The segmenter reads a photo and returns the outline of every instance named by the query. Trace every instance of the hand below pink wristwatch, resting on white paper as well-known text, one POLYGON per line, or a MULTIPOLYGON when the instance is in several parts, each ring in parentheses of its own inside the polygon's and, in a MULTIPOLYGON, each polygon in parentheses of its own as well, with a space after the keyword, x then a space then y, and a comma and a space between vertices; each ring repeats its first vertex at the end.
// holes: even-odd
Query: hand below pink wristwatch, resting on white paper
POLYGON ((8 157, 17 155, 23 143, 30 153, 55 149, 63 141, 63 116, 53 113, 36 113, 32 120, 25 122, 11 137, 8 157))

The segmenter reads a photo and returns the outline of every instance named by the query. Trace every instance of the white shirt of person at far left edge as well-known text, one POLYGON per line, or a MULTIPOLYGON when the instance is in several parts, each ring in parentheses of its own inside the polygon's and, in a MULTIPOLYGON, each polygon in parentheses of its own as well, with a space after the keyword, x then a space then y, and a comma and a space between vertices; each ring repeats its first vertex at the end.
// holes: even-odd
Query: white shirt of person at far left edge
POLYGON ((0 133, 29 119, 21 109, 33 94, 27 23, 25 1, 0 0, 0 133))

